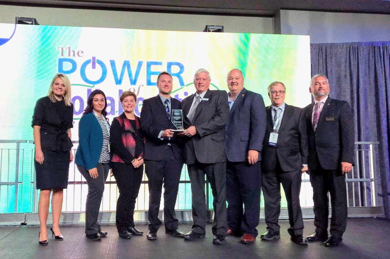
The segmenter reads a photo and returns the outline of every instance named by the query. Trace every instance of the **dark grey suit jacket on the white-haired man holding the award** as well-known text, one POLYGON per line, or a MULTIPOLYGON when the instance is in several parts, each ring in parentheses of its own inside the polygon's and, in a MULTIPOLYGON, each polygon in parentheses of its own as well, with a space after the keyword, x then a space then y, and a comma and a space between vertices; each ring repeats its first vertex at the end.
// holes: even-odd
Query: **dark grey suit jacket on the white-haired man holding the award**
POLYGON ((226 162, 225 154, 225 124, 229 119, 229 105, 227 93, 224 90, 207 90, 195 112, 193 123, 187 114, 190 111, 195 94, 185 98, 183 109, 184 128, 195 126, 197 134, 191 138, 185 137, 184 158, 187 165, 195 163, 222 163, 226 162))

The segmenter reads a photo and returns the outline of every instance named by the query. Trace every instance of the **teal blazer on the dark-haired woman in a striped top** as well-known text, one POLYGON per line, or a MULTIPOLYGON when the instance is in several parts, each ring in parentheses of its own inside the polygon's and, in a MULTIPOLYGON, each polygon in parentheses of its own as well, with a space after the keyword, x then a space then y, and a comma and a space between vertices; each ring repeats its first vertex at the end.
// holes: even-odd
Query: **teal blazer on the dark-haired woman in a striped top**
POLYGON ((80 119, 78 143, 74 163, 87 170, 97 167, 103 147, 103 131, 92 112, 84 114, 80 119))

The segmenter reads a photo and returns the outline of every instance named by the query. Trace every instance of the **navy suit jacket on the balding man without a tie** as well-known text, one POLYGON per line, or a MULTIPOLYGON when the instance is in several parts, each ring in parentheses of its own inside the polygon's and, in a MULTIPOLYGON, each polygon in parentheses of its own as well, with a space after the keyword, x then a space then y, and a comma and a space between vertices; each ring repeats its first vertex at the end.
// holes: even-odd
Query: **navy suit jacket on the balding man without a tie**
MULTIPOLYGON (((243 88, 234 101, 229 112, 229 122, 225 126, 227 160, 245 162, 249 149, 261 152, 266 117, 262 96, 243 88)), ((258 158, 260 160, 261 153, 258 158)))

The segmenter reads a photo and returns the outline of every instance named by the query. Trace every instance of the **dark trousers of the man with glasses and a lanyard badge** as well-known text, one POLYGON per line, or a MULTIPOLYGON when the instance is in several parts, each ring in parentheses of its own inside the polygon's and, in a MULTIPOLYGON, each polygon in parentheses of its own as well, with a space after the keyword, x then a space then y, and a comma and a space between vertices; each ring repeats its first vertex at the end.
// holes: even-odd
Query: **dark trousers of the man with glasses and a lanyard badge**
POLYGON ((291 236, 303 234, 303 218, 299 194, 301 192, 301 170, 284 172, 277 161, 274 170, 263 170, 262 190, 264 195, 264 211, 267 231, 275 234, 280 231, 278 219, 280 215, 280 184, 282 184, 287 200, 290 227, 287 232, 291 236))

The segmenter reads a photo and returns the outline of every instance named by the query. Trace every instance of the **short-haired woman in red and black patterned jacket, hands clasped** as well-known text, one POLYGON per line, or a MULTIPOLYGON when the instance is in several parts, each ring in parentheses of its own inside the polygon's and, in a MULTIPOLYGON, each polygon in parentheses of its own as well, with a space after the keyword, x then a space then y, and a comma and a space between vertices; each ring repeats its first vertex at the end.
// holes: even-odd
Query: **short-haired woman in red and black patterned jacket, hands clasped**
POLYGON ((113 119, 110 128, 111 162, 119 189, 116 225, 119 236, 130 239, 131 234, 139 236, 144 233, 135 228, 133 220, 135 200, 144 173, 144 137, 140 119, 134 114, 137 95, 124 91, 120 101, 123 113, 113 119))

